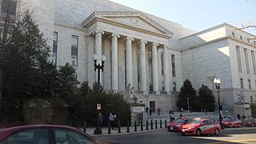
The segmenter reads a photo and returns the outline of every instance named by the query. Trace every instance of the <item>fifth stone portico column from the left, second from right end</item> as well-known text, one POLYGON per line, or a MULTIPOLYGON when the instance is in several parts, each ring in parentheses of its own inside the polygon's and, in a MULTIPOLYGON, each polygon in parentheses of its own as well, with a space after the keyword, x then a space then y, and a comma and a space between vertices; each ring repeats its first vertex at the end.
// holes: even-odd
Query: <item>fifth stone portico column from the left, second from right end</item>
POLYGON ((153 90, 155 92, 159 91, 158 85, 158 52, 157 43, 152 44, 152 70, 153 70, 153 90))

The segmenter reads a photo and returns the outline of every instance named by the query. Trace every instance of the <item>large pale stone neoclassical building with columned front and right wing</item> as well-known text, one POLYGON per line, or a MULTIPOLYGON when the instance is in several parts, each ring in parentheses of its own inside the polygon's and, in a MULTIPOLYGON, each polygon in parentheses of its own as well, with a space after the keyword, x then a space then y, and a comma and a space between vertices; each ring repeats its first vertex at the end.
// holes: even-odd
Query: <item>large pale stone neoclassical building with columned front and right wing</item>
MULTIPOLYGON (((1 6, 5 0, 1 0, 1 6)), ((2 6, 3 7, 3 6, 2 6)), ((70 62, 78 80, 97 80, 93 54, 106 56, 104 90, 134 94, 155 110, 176 110, 178 90, 186 78, 194 89, 214 90, 221 79, 221 102, 234 106, 238 94, 256 100, 255 35, 223 23, 195 32, 107 0, 21 0, 17 12, 34 10, 34 18, 52 47, 57 65, 70 62)))

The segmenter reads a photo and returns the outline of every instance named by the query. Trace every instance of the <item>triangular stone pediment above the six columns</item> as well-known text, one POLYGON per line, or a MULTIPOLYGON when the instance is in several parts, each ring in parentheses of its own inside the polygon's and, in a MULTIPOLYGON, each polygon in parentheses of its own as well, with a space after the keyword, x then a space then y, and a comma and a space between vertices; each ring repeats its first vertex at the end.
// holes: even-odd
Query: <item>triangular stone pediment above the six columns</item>
POLYGON ((82 26, 88 27, 100 20, 111 22, 113 25, 126 26, 126 28, 166 35, 170 38, 173 36, 170 30, 139 11, 96 11, 82 22, 82 26))

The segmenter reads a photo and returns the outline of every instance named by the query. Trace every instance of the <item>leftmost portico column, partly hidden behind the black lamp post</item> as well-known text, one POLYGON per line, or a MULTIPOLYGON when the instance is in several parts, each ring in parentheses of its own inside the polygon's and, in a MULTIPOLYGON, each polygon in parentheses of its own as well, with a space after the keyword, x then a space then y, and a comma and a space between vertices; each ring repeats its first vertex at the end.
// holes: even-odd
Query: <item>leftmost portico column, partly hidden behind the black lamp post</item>
MULTIPOLYGON (((95 52, 98 55, 97 64, 102 64, 102 34, 104 34, 104 31, 102 30, 96 30, 95 31, 95 52)), ((98 69, 99 70, 99 69, 98 69)), ((98 71, 96 70, 96 76, 95 76, 95 82, 97 82, 98 79, 98 71)), ((102 83, 102 71, 100 71, 100 83, 102 83)))

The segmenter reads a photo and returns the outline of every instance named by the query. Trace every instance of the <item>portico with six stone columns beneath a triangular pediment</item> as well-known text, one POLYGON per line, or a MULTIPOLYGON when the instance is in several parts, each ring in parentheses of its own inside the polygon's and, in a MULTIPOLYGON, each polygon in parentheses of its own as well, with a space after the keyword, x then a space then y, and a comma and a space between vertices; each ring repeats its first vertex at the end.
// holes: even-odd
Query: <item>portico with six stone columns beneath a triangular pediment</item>
POLYGON ((158 65, 163 63, 164 91, 170 94, 168 41, 173 34, 169 30, 138 11, 94 12, 82 22, 82 26, 86 28, 87 36, 94 37, 92 50, 98 55, 106 49, 102 46, 103 39, 110 38, 111 52, 109 58, 106 56, 110 60, 110 78, 105 79, 110 81, 106 82, 110 84, 110 90, 123 91, 130 84, 136 93, 149 94, 152 85, 154 94, 160 94, 159 84, 162 82, 158 65), (158 58, 159 50, 162 51, 162 59, 158 58), (120 54, 122 52, 125 54, 120 54), (152 74, 149 74, 148 54, 152 57, 152 74), (124 81, 121 75, 125 75, 124 81))

